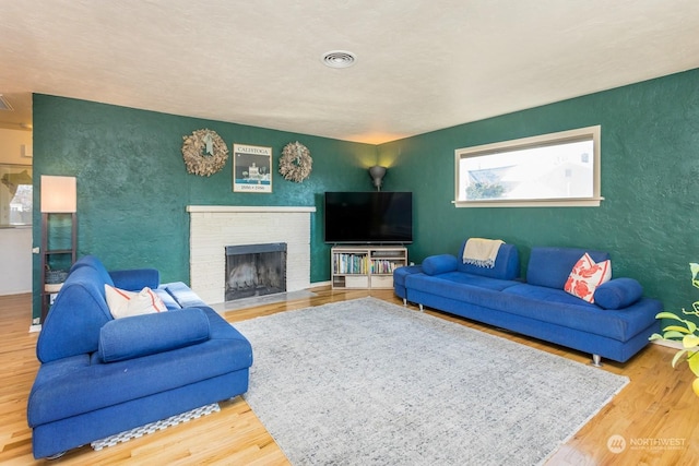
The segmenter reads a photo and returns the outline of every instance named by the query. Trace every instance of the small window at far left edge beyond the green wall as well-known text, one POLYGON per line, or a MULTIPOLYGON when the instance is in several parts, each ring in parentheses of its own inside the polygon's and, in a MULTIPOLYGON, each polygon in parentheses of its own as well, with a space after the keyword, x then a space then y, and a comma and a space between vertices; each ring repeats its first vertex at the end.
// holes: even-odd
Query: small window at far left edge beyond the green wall
POLYGON ((0 165, 0 227, 32 225, 32 166, 0 165))

